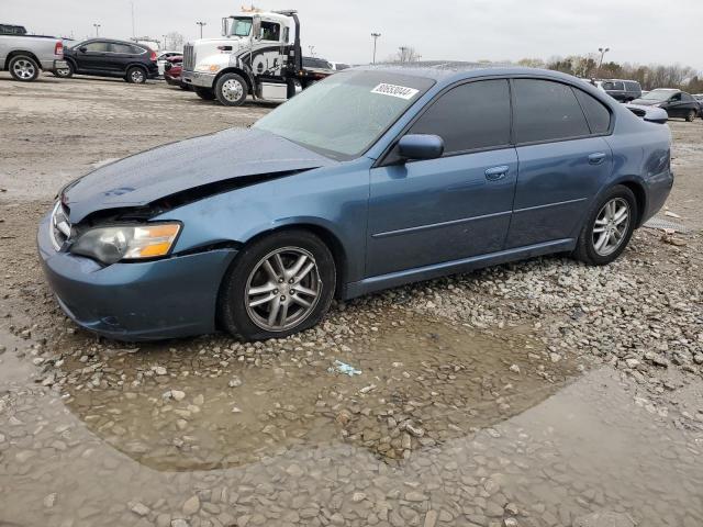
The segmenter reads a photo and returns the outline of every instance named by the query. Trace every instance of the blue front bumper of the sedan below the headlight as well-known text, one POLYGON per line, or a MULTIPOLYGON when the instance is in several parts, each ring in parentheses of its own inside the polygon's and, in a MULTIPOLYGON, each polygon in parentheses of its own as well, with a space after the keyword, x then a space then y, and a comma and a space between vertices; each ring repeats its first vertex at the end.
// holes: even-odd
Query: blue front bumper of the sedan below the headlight
POLYGON ((160 260, 98 262, 57 251, 49 216, 37 233, 42 268, 60 307, 78 325, 118 340, 155 340, 212 333, 232 248, 160 260))

